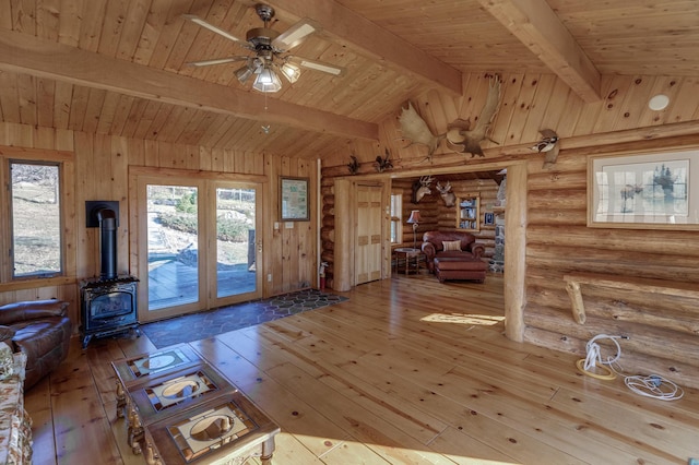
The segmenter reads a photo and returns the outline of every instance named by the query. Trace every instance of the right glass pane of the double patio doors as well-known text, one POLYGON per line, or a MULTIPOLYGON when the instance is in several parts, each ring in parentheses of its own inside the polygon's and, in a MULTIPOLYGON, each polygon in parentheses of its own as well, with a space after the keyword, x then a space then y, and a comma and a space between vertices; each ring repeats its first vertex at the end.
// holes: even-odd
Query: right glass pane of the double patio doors
POLYGON ((257 291, 256 189, 216 188, 216 297, 257 291))

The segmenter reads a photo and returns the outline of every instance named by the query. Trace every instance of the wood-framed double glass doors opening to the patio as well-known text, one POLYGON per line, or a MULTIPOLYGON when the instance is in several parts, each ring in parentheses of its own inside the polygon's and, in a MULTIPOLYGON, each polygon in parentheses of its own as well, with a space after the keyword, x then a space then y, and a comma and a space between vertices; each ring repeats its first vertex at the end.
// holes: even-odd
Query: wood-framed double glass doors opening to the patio
POLYGON ((138 180, 139 320, 159 320, 262 295, 257 183, 138 180))

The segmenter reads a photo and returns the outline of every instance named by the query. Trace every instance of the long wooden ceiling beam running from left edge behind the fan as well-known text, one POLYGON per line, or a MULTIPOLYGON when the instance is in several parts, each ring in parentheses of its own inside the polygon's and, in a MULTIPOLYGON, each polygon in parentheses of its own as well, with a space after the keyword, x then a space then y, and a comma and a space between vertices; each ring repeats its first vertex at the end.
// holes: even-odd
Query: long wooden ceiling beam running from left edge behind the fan
POLYGON ((0 28, 0 69, 342 138, 379 139, 378 124, 155 70, 0 28), (266 106, 266 110, 264 110, 266 106))

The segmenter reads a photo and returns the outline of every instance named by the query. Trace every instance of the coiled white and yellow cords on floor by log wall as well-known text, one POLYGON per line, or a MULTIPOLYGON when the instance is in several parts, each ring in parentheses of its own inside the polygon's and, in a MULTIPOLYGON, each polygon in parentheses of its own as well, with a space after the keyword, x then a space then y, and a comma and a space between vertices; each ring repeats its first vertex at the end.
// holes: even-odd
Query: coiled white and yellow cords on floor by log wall
POLYGON ((578 369, 589 377, 593 377, 600 380, 613 380, 616 374, 624 378, 624 383, 628 389, 635 393, 645 396, 657 398, 660 401, 677 401, 685 395, 685 392, 674 382, 660 374, 650 374, 648 377, 632 375, 626 377, 614 369, 614 363, 621 357, 621 346, 617 339, 627 339, 626 336, 609 336, 607 334, 599 334, 591 338, 585 345, 587 357, 578 360, 578 369), (602 349, 597 344, 600 339, 611 339, 616 346, 616 355, 608 356, 606 359, 602 359, 602 349), (597 362, 602 366, 599 367, 597 362), (604 367, 607 366, 607 367, 604 367), (602 368, 606 371, 605 374, 599 374, 597 368, 602 368))

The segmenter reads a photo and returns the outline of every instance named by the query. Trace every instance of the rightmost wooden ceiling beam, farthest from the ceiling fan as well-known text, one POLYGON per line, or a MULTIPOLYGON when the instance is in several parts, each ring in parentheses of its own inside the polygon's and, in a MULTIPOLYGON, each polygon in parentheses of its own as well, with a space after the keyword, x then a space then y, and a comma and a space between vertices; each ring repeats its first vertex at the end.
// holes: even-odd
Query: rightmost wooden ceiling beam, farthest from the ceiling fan
POLYGON ((602 99, 600 72, 545 0, 478 0, 584 102, 602 99))

